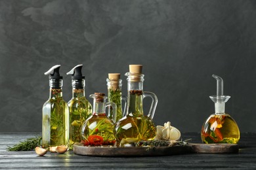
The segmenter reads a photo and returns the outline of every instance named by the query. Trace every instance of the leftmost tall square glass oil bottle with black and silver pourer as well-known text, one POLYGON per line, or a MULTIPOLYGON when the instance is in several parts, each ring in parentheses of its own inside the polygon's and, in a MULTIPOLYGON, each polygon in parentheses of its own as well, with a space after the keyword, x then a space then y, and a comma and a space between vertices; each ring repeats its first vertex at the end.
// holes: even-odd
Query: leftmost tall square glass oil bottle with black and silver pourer
POLYGON ((54 65, 45 75, 49 75, 50 97, 43 105, 42 146, 55 152, 56 146, 69 142, 68 105, 62 97, 62 76, 60 65, 54 65))

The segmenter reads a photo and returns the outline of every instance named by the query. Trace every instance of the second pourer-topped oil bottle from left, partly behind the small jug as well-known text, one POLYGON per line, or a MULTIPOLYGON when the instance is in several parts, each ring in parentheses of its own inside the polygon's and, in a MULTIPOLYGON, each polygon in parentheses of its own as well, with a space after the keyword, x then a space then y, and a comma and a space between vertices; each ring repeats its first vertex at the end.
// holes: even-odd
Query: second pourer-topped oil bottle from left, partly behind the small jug
POLYGON ((74 143, 81 141, 83 122, 91 116, 91 103, 85 97, 85 76, 82 75, 83 65, 75 66, 67 75, 72 75, 72 99, 68 102, 70 111, 70 149, 74 143))

